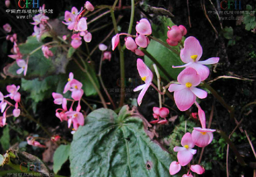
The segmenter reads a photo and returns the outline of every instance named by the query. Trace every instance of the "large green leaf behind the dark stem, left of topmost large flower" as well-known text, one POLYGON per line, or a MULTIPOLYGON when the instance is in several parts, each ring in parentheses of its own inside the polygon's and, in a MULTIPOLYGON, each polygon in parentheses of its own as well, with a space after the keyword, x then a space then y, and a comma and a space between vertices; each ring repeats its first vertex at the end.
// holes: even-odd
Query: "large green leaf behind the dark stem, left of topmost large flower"
MULTIPOLYGON (((167 26, 173 26, 174 23, 170 18, 167 17, 159 17, 161 20, 161 24, 152 24, 153 36, 160 39, 162 42, 166 43, 167 39, 167 26)), ((184 40, 184 39, 183 39, 184 40)), ((182 41, 183 41, 182 40, 182 41)), ((166 43, 167 44, 167 43, 166 43)), ((178 46, 172 46, 173 49, 176 49, 180 52, 178 46)), ((172 66, 183 65, 184 63, 181 61, 180 56, 166 48, 162 44, 151 40, 150 44, 147 47, 147 51, 161 64, 161 66, 169 73, 169 75, 176 80, 179 73, 183 70, 183 68, 172 68, 172 66)), ((153 62, 145 56, 145 63, 153 69, 153 62)), ((159 68, 158 68, 159 69, 159 68)), ((160 76, 165 78, 167 77, 163 74, 163 72, 159 69, 160 76)))

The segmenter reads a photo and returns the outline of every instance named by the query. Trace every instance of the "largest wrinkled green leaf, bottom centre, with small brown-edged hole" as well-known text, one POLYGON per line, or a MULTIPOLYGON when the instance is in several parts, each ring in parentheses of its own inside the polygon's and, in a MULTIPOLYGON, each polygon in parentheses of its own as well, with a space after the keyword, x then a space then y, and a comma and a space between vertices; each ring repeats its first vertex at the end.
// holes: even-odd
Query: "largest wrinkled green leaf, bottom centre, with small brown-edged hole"
POLYGON ((128 110, 126 105, 117 115, 101 108, 87 116, 71 143, 71 176, 170 176, 170 154, 145 133, 143 122, 150 124, 128 110))

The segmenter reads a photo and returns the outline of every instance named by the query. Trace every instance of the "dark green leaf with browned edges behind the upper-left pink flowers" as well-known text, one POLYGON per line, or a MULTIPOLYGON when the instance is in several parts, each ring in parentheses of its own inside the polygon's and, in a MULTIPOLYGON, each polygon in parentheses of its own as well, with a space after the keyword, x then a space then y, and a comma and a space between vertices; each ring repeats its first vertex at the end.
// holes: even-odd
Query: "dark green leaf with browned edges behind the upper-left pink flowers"
MULTIPOLYGON (((23 59, 27 60, 27 56, 38 47, 42 46, 43 43, 38 42, 36 37, 29 36, 26 43, 19 44, 19 49, 23 55, 23 59)), ((26 79, 34 79, 37 77, 44 78, 49 75, 54 75, 58 73, 65 73, 66 65, 69 62, 69 59, 66 57, 66 52, 62 51, 59 48, 53 47, 52 49, 53 57, 47 59, 44 57, 41 48, 34 52, 29 57, 28 62, 28 71, 26 79)), ((16 78, 24 77, 23 74, 16 74, 16 71, 19 69, 19 66, 16 62, 12 62, 4 68, 6 75, 16 78)))

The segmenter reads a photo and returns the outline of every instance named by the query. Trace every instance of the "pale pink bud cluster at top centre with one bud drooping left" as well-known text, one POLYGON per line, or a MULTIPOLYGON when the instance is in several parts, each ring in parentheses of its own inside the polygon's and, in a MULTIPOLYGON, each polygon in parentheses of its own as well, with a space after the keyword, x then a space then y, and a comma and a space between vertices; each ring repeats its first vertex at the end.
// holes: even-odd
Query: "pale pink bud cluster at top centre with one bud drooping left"
POLYGON ((147 19, 143 18, 139 22, 137 22, 137 25, 135 28, 137 31, 136 36, 129 35, 126 33, 116 34, 112 38, 112 50, 114 51, 117 45, 119 44, 120 42, 119 36, 127 35, 129 37, 124 38, 126 48, 134 52, 136 55, 144 56, 144 53, 138 49, 138 46, 141 48, 146 48, 148 46, 150 41, 147 35, 150 35, 152 33, 151 25, 147 19), (132 37, 136 37, 135 41, 132 37))

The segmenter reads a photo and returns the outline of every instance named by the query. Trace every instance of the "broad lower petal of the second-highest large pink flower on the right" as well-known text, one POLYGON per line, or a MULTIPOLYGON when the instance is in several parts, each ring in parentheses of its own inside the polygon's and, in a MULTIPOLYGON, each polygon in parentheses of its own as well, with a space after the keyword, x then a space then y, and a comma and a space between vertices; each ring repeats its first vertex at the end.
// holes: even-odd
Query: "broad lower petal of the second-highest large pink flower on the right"
POLYGON ((189 88, 174 92, 174 100, 181 111, 188 110, 196 100, 196 96, 189 88))

